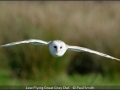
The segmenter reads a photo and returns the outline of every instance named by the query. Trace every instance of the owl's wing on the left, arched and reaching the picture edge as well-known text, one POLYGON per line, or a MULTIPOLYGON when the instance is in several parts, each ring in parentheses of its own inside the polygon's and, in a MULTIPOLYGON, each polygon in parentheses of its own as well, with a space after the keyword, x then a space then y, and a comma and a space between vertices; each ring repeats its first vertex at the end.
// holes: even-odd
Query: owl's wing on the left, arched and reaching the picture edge
POLYGON ((17 44, 23 44, 23 43, 31 43, 31 44, 34 44, 34 45, 47 45, 47 44, 49 44, 49 42, 46 42, 46 41, 36 40, 36 39, 29 39, 29 40, 4 44, 4 45, 1 45, 0 47, 8 47, 8 46, 13 46, 13 45, 17 45, 17 44))

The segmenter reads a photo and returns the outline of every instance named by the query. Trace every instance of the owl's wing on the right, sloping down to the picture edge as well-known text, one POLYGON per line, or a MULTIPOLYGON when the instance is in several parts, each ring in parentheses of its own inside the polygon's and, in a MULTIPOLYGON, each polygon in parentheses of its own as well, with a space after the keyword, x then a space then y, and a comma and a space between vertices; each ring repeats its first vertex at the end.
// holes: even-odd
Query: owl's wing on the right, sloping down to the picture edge
POLYGON ((88 48, 84 48, 84 47, 68 46, 68 50, 73 50, 73 51, 77 51, 77 52, 84 51, 84 52, 94 53, 94 54, 97 54, 97 55, 100 55, 100 56, 103 56, 103 57, 106 57, 106 58, 111 58, 111 59, 115 59, 115 60, 120 61, 120 59, 118 59, 118 58, 115 58, 115 57, 112 57, 110 55, 107 55, 107 54, 104 54, 104 53, 101 53, 101 52, 97 52, 97 51, 94 51, 94 50, 91 50, 91 49, 88 49, 88 48))

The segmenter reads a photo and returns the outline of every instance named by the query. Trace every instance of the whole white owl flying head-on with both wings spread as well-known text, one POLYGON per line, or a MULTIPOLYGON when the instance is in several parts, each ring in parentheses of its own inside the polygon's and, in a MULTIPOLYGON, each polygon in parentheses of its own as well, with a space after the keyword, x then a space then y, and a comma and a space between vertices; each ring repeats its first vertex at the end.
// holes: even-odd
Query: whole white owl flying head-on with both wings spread
POLYGON ((8 47, 8 46, 13 46, 13 45, 17 45, 17 44, 23 44, 23 43, 30 43, 30 44, 34 44, 34 45, 49 45, 49 50, 50 53, 53 56, 58 56, 61 57, 64 55, 64 53, 66 52, 66 50, 73 50, 73 51, 77 51, 77 52, 89 52, 89 53, 94 53, 106 58, 110 58, 110 59, 115 59, 120 61, 120 59, 112 57, 110 55, 101 53, 101 52, 97 52, 88 48, 84 48, 84 47, 79 47, 79 46, 69 46, 67 44, 65 44, 63 41, 61 40, 54 40, 54 41, 42 41, 42 40, 36 40, 36 39, 29 39, 29 40, 24 40, 24 41, 18 41, 18 42, 12 42, 12 43, 8 43, 8 44, 4 44, 1 45, 0 47, 8 47))

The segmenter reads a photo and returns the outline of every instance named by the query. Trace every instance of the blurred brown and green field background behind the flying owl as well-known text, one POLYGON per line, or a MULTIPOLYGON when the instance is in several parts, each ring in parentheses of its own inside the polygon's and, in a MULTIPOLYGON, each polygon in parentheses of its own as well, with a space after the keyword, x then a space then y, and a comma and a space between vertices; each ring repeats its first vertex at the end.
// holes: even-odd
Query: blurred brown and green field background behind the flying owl
MULTIPOLYGON (((63 40, 120 58, 120 2, 1 1, 0 45, 63 40)), ((53 57, 47 46, 0 48, 0 85, 120 85, 120 62, 86 52, 53 57)))

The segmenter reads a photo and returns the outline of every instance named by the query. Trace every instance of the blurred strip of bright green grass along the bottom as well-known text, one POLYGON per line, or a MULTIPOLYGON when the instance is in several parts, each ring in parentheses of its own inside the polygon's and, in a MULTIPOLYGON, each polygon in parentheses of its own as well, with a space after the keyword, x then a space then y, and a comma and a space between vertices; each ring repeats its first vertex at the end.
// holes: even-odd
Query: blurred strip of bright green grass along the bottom
POLYGON ((25 80, 11 77, 9 70, 0 70, 0 86, 25 86, 25 85, 92 85, 92 86, 119 86, 120 81, 103 78, 100 74, 68 76, 59 74, 56 77, 39 80, 25 80))

